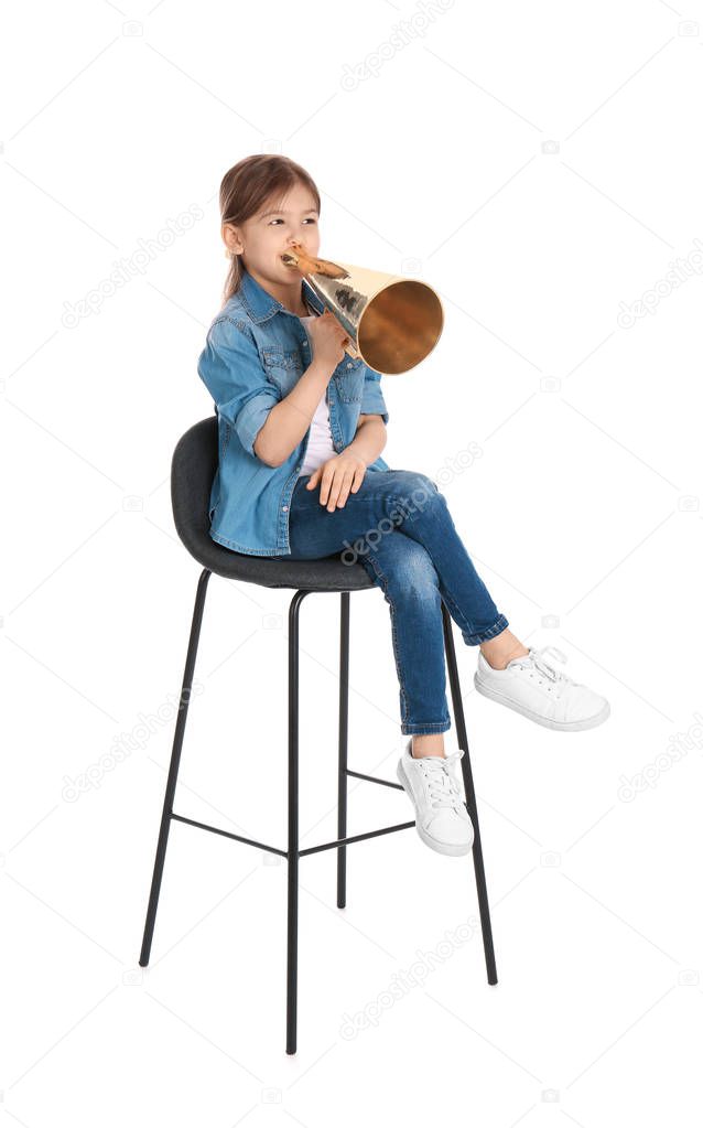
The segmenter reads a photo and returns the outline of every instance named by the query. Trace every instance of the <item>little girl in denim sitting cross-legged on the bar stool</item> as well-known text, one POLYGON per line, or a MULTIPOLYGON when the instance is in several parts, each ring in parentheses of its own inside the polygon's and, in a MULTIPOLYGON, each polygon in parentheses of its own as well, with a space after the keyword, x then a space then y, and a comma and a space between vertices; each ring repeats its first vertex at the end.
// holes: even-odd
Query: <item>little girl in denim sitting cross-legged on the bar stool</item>
POLYGON ((473 828, 444 751, 442 601, 468 646, 475 688, 537 724, 589 729, 609 714, 600 695, 555 670, 552 646, 524 646, 478 575, 438 487, 381 458, 389 421, 381 377, 345 352, 338 320, 303 291, 282 256, 317 257, 320 195, 287 157, 259 153, 220 187, 231 267, 198 373, 217 409, 220 460, 211 536, 233 552, 285 559, 340 555, 361 563, 390 606, 401 732, 398 777, 417 830, 443 854, 465 854, 473 828))

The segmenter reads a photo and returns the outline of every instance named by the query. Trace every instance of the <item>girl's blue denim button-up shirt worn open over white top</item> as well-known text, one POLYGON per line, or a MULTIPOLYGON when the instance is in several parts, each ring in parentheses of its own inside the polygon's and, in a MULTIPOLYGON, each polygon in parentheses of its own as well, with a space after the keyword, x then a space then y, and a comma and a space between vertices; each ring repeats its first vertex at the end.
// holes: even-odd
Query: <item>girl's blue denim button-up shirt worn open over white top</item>
MULTIPOLYGON (((309 293, 309 300, 315 312, 324 312, 314 294, 309 293)), ((217 414, 219 465, 210 494, 210 535, 225 548, 249 556, 291 552, 288 510, 310 428, 281 466, 264 462, 253 442, 272 407, 309 368, 312 353, 300 317, 244 271, 240 289, 207 331, 197 365, 217 414)), ((354 439, 359 415, 381 415, 388 423, 381 377, 361 359, 345 353, 326 397, 337 452, 354 439)), ((379 456, 366 473, 388 469, 379 456)))

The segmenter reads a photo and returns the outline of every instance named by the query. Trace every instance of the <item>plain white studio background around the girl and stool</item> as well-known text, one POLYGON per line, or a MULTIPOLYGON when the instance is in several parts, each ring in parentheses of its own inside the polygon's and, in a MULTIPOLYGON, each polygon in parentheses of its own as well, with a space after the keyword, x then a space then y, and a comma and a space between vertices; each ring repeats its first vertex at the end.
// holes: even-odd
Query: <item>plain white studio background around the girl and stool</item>
MULTIPOLYGON (((682 5, 6 8, 2 1123, 700 1118, 703 5, 682 5), (475 916, 470 858, 413 830, 359 843, 340 911, 333 852, 313 855, 295 1057, 283 860, 173 823, 137 968, 199 574, 170 457, 213 411, 220 180, 261 151, 315 178, 323 255, 441 293, 439 345, 384 378, 383 457, 443 475, 511 629, 612 704, 588 732, 532 724, 475 694, 454 628, 499 984, 478 934, 438 949, 475 916)), ((291 596, 211 580, 176 799, 282 848, 291 596)), ((301 628, 309 846, 336 835, 338 598, 309 597, 301 628)), ((352 597, 350 681, 349 764, 394 778, 377 589, 352 597)), ((349 834, 411 817, 353 781, 349 834)))

